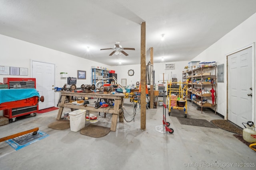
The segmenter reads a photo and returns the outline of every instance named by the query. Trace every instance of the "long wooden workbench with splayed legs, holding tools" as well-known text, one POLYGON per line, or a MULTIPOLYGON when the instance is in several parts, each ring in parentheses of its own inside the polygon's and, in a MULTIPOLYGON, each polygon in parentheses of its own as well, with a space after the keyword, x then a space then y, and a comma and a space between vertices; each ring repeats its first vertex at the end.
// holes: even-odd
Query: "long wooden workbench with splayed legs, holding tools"
POLYGON ((111 131, 116 131, 116 123, 117 123, 117 117, 119 115, 119 121, 120 122, 124 122, 124 117, 123 117, 123 110, 121 109, 122 104, 124 102, 124 94, 122 93, 118 93, 118 94, 103 94, 103 93, 98 93, 98 92, 91 92, 91 93, 77 93, 77 92, 61 92, 60 94, 60 103, 58 104, 58 107, 60 107, 58 115, 57 115, 57 120, 61 119, 62 116, 62 111, 64 107, 67 108, 71 108, 71 111, 73 111, 73 109, 85 109, 88 111, 98 111, 98 112, 102 112, 104 111, 104 109, 106 109, 105 113, 110 113, 112 114, 112 121, 111 121, 111 127, 110 130, 111 131), (76 96, 76 97, 88 97, 88 98, 102 98, 102 99, 114 99, 115 100, 115 104, 114 104, 114 108, 94 108, 94 107, 87 107, 84 105, 81 106, 76 106, 72 103, 66 103, 66 99, 68 101, 70 101, 72 96, 76 96), (122 113, 122 114, 120 114, 122 113))

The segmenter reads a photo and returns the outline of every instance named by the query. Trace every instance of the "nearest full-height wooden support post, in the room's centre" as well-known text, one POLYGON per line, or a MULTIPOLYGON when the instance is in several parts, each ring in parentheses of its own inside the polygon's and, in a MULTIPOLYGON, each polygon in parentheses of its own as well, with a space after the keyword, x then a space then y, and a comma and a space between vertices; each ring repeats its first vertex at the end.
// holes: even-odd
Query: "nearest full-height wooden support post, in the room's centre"
POLYGON ((140 129, 146 130, 146 22, 140 31, 140 129))

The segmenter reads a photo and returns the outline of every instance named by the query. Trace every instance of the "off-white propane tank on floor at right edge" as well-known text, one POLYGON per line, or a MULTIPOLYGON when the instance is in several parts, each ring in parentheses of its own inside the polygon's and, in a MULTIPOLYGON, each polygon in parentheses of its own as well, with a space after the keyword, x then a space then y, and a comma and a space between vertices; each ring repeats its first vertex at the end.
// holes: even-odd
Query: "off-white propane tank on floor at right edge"
MULTIPOLYGON (((244 125, 244 123, 242 123, 244 125)), ((254 123, 252 121, 248 121, 246 126, 244 125, 243 129, 243 139, 250 143, 256 143, 256 131, 254 127, 254 123)))

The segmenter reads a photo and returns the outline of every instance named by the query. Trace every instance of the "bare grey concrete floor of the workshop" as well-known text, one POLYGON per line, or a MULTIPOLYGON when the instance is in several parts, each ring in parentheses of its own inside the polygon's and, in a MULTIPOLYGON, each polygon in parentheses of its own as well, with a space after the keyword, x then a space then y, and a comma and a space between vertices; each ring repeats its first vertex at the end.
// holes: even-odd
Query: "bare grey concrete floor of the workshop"
MULTIPOLYGON (((125 99, 124 107, 130 114, 124 113, 126 120, 132 119, 130 106, 129 99, 125 99)), ((0 143, 0 170, 255 170, 256 167, 256 152, 228 131, 182 125, 176 117, 168 116, 168 110, 166 119, 174 133, 156 131, 155 127, 162 125, 163 119, 160 106, 146 110, 146 131, 140 129, 140 109, 137 109, 135 122, 118 122, 116 132, 101 138, 70 129, 48 128, 57 113, 58 110, 50 111, 0 126, 0 138, 34 127, 49 134, 17 151, 6 142, 0 143)), ((184 111, 172 110, 171 113, 183 115, 184 111)), ((111 117, 109 114, 104 118, 101 113, 100 121, 95 124, 110 127, 111 117)), ((210 110, 201 113, 190 102, 188 118, 222 119, 210 110)))

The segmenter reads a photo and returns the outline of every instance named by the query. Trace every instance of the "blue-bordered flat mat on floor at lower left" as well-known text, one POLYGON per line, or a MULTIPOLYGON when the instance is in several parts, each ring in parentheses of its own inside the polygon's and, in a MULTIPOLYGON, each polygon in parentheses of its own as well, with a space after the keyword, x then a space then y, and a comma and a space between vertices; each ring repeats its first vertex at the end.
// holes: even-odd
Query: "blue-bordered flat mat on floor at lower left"
POLYGON ((13 138, 13 139, 9 139, 6 141, 6 143, 8 143, 11 147, 13 147, 13 149, 19 150, 49 136, 47 133, 44 133, 39 130, 37 131, 36 135, 32 135, 32 134, 33 132, 13 138))

